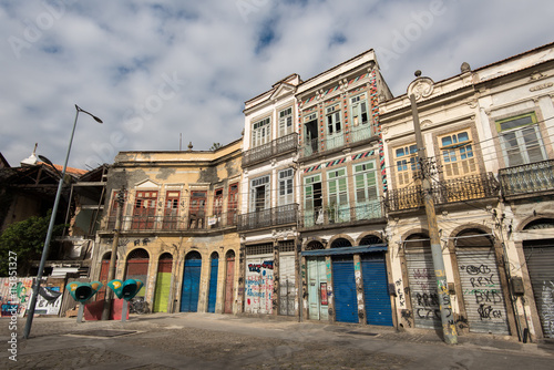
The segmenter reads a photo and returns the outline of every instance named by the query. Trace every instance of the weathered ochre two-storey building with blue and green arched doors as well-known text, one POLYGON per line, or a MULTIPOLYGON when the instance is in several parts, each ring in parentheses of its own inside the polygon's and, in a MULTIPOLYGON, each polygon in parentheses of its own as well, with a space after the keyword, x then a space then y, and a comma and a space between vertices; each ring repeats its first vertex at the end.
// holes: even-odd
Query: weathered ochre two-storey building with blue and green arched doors
POLYGON ((119 153, 91 278, 107 278, 121 193, 116 278, 142 280, 137 297, 154 312, 236 312, 240 145, 119 153))

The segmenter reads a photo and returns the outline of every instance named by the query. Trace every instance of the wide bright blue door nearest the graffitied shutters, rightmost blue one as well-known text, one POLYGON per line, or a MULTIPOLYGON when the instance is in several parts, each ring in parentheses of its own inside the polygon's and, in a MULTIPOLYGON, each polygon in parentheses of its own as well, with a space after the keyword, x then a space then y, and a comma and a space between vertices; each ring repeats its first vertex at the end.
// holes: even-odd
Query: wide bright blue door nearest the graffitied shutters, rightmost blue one
POLYGON ((369 325, 392 326, 392 310, 387 284, 384 254, 372 253, 361 257, 366 318, 369 325))

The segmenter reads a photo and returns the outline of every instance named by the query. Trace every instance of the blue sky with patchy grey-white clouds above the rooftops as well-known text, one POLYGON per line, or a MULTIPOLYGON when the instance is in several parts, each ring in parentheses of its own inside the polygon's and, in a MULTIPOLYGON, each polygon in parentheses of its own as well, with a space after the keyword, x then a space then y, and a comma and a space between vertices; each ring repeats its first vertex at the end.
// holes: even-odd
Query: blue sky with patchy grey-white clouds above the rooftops
POLYGON ((0 153, 91 169, 242 137, 244 102, 373 49, 394 96, 554 41, 552 0, 0 0, 0 153))

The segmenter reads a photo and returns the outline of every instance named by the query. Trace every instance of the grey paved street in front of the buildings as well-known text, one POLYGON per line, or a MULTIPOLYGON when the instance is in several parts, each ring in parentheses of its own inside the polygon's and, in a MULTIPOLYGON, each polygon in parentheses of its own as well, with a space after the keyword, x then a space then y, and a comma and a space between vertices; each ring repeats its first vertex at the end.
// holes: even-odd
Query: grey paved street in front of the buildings
MULTIPOLYGON (((213 314, 132 316, 127 322, 35 318, 1 369, 552 369, 554 346, 388 328, 237 318, 213 314)), ((22 332, 24 320, 18 322, 22 332)))

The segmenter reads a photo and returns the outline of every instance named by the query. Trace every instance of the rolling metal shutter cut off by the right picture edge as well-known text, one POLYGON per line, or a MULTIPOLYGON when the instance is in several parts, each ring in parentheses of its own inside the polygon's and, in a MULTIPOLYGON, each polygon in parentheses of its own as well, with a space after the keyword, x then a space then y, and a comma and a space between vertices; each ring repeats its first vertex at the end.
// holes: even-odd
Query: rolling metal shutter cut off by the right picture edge
POLYGON ((551 245, 525 246, 524 251, 543 336, 554 338, 554 243, 547 244, 551 245))

